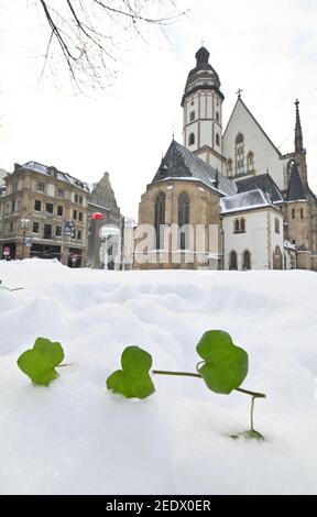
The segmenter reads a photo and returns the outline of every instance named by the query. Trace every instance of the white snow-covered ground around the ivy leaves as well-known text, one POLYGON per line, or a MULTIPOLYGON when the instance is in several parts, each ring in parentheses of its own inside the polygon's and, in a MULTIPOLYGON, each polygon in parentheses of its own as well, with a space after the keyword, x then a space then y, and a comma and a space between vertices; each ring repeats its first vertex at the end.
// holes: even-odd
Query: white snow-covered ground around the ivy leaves
POLYGON ((317 494, 317 275, 101 272, 0 263, 1 494, 317 494), (154 378, 129 402, 106 389, 127 345, 161 370, 195 371, 209 329, 250 354, 245 388, 266 442, 232 441, 249 397, 199 380, 154 378), (34 387, 15 362, 36 337, 72 366, 34 387))

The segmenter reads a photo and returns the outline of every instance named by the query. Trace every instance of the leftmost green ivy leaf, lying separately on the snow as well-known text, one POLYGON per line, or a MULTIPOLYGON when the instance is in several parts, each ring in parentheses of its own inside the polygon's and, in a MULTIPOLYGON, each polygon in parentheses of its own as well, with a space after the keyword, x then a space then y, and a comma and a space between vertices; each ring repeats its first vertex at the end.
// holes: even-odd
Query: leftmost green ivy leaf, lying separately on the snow
POLYGON ((58 377, 55 367, 62 363, 63 359, 64 350, 61 343, 37 338, 33 349, 20 355, 18 366, 34 384, 48 386, 58 377))

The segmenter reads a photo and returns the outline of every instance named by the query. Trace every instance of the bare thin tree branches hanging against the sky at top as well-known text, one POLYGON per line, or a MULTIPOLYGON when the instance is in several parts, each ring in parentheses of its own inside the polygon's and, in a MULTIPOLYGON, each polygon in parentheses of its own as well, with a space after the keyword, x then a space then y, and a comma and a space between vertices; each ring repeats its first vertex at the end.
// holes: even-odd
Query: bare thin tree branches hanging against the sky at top
POLYGON ((151 43, 146 26, 163 30, 186 12, 175 0, 35 0, 50 28, 41 77, 62 57, 75 90, 108 88, 117 77, 120 47, 151 43))

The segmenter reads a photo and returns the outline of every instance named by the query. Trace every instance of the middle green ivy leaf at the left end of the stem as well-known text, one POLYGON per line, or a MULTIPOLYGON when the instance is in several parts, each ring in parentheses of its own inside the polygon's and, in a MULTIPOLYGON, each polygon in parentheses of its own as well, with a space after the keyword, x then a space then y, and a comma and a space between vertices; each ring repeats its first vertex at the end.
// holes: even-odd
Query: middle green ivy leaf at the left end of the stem
POLYGON ((122 370, 107 378, 107 388, 125 398, 144 399, 155 392, 150 377, 152 356, 139 346, 127 348, 121 355, 122 370))

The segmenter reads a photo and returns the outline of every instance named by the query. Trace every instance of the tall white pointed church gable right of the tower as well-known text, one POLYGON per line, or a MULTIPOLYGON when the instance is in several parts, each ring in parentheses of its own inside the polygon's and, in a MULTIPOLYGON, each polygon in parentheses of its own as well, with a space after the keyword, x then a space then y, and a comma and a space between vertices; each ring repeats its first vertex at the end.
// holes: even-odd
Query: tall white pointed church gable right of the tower
POLYGON ((228 176, 252 177, 269 169, 278 188, 285 188, 283 155, 241 98, 232 111, 222 143, 228 176))

